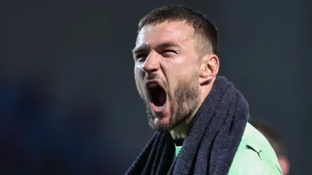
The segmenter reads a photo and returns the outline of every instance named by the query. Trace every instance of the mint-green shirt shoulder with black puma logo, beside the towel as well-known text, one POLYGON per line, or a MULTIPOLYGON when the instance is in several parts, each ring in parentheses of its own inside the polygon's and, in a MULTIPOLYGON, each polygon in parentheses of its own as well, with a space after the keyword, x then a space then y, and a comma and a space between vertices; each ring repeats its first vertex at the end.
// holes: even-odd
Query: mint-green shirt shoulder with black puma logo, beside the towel
POLYGON ((269 141, 247 123, 229 175, 282 175, 269 141))

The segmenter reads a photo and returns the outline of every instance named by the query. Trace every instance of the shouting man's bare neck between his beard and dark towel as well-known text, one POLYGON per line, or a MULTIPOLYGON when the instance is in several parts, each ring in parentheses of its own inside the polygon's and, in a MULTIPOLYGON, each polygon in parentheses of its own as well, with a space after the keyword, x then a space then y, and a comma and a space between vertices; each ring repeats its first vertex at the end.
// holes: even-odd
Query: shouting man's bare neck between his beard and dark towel
POLYGON ((211 83, 201 86, 201 99, 200 99, 199 105, 197 106, 194 114, 187 121, 179 124, 178 126, 176 126, 176 128, 170 131, 170 134, 173 139, 184 138, 187 136, 187 132, 189 130, 189 122, 193 119, 197 110, 199 109, 199 107, 201 106, 205 98, 208 96, 209 92, 211 91, 213 87, 214 81, 215 81, 215 78, 211 81, 211 83))

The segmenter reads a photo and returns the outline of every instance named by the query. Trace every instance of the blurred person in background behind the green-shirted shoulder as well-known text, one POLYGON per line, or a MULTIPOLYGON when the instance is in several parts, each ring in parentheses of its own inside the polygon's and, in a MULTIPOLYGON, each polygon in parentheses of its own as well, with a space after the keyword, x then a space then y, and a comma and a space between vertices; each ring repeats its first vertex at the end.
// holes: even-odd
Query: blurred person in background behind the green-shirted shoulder
POLYGON ((281 139, 281 136, 278 135, 277 132, 273 130, 273 128, 270 127, 267 123, 253 118, 250 121, 250 124, 252 124, 258 131, 260 131, 270 142, 272 145, 277 158, 279 165, 281 166, 281 170, 283 172, 283 175, 288 175, 289 169, 290 169, 290 162, 287 157, 287 149, 284 145, 283 140, 281 139))

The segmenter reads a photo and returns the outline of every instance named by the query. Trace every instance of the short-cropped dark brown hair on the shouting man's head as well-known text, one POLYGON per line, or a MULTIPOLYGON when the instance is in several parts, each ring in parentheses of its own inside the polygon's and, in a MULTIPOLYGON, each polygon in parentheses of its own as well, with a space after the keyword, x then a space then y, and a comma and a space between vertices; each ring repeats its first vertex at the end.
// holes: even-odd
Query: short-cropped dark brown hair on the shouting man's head
POLYGON ((203 40, 203 45, 200 47, 206 51, 211 49, 214 54, 217 54, 219 40, 215 25, 202 13, 182 5, 168 5, 154 9, 140 20, 138 32, 145 25, 165 21, 186 21, 195 29, 195 34, 203 40))

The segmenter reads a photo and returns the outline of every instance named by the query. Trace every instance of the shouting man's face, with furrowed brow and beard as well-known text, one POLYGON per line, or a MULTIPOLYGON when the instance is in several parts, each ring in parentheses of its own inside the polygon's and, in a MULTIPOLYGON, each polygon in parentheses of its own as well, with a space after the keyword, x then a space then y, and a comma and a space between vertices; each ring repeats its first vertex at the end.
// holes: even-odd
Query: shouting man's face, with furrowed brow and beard
POLYGON ((173 129, 199 106, 199 53, 193 36, 193 27, 178 21, 146 25, 137 36, 135 80, 156 131, 173 129))

